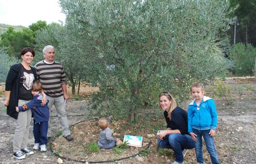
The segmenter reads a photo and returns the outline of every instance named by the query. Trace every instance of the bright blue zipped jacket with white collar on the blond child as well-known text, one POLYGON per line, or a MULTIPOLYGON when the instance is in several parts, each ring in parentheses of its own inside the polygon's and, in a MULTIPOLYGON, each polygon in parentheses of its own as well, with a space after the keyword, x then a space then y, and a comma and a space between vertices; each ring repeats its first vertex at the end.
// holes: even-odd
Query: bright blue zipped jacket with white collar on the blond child
POLYGON ((216 130, 217 127, 217 111, 214 100, 210 97, 204 96, 199 108, 193 100, 189 104, 188 112, 188 132, 197 130, 216 130))

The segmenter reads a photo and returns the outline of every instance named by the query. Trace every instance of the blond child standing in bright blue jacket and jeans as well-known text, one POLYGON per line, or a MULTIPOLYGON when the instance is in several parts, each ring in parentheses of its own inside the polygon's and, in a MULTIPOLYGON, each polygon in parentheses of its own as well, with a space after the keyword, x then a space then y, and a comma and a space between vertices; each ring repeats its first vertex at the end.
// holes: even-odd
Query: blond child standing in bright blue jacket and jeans
POLYGON ((188 132, 192 139, 196 141, 195 153, 197 163, 204 163, 203 136, 211 161, 215 164, 219 163, 213 138, 217 127, 217 111, 214 100, 204 96, 204 93, 204 85, 202 83, 193 83, 191 94, 194 100, 189 104, 188 132))

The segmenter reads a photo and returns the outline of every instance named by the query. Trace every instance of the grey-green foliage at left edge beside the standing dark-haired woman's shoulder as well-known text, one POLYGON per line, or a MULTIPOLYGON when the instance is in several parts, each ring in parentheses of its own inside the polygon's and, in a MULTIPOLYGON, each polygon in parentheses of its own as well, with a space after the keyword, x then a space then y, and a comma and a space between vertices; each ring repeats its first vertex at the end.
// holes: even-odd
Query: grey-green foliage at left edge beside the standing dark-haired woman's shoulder
POLYGON ((0 48, 0 82, 5 82, 10 67, 17 62, 17 58, 8 55, 7 48, 0 48))

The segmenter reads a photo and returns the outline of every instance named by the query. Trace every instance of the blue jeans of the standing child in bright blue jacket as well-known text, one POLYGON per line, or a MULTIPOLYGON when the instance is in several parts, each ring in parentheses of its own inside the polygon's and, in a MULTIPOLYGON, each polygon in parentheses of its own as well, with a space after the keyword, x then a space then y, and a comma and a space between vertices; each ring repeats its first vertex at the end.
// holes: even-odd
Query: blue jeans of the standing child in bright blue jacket
POLYGON ((193 132, 197 135, 196 136, 197 141, 195 142, 195 154, 196 154, 197 163, 204 163, 202 136, 204 137, 206 149, 210 154, 212 163, 213 164, 219 163, 218 154, 214 145, 214 139, 209 134, 210 130, 200 131, 200 130, 193 129, 193 132))

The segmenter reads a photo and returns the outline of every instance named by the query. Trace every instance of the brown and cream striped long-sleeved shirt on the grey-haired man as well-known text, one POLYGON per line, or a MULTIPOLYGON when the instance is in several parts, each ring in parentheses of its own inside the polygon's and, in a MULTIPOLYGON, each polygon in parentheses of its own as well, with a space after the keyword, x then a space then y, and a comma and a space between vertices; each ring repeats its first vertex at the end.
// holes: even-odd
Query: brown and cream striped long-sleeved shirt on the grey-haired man
POLYGON ((60 63, 47 64, 44 60, 35 64, 38 80, 42 83, 46 95, 60 97, 63 95, 62 84, 66 84, 66 74, 60 63))

